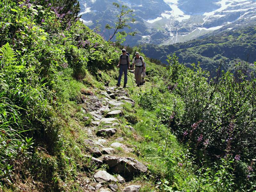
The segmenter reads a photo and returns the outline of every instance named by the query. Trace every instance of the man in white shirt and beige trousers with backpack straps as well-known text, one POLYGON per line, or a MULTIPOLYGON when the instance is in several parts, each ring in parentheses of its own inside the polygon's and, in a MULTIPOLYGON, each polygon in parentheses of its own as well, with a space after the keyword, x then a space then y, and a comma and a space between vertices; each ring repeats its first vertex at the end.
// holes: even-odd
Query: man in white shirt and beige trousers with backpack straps
POLYGON ((143 84, 141 79, 141 74, 145 69, 145 66, 144 66, 145 62, 143 57, 140 56, 140 53, 136 52, 135 55, 136 56, 132 60, 132 70, 134 69, 134 65, 135 65, 134 75, 135 75, 137 87, 139 87, 140 85, 143 84))

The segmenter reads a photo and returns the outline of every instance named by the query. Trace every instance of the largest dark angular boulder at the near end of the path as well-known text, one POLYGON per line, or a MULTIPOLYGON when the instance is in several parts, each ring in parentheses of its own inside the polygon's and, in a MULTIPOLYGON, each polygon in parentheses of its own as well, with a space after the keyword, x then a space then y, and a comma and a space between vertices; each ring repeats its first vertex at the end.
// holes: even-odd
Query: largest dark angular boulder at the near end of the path
POLYGON ((111 172, 119 173, 127 180, 132 180, 133 176, 148 171, 148 168, 144 164, 132 157, 105 156, 102 162, 109 166, 111 172))

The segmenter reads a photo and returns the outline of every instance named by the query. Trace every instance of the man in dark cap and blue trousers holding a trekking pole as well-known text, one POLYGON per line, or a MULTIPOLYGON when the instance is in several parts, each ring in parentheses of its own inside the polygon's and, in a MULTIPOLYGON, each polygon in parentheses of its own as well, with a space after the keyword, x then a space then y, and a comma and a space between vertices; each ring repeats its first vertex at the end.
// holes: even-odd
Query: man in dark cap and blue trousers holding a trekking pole
POLYGON ((119 63, 117 65, 117 68, 119 69, 119 76, 118 76, 118 81, 116 86, 120 87, 121 84, 121 78, 122 75, 124 73, 124 88, 126 87, 127 84, 127 73, 128 73, 128 69, 130 69, 130 58, 129 56, 126 54, 126 50, 122 49, 122 55, 120 55, 119 57, 119 63))

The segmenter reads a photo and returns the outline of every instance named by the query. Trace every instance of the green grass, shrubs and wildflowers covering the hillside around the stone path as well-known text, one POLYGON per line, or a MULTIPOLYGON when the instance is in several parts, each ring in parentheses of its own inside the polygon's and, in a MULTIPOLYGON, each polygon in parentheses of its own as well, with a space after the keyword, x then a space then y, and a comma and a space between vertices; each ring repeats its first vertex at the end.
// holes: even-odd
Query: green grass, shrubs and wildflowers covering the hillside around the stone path
MULTIPOLYGON (((88 112, 116 84, 122 45, 77 21, 76 1, 58 3, 63 8, 53 0, 0 2, 2 191, 84 191, 96 171, 85 158, 88 112)), ((128 49, 132 57, 141 52, 128 49)), ((131 183, 144 192, 255 190, 256 80, 247 65, 234 66, 234 75, 220 66, 211 79, 175 55, 167 68, 141 55, 147 82, 133 87, 129 77, 135 107, 123 105, 108 141, 124 137, 129 156, 147 164, 149 172, 131 183)), ((127 154, 118 148, 116 155, 127 154)))

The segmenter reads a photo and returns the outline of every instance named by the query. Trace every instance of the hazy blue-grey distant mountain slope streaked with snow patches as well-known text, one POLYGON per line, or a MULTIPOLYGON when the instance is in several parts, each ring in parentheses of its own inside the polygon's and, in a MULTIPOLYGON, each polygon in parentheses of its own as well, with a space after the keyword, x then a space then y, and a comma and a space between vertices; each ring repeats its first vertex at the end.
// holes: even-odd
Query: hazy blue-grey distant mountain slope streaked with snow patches
MULTIPOLYGON (((256 24, 255 0, 79 0, 81 20, 90 28, 112 24, 118 13, 112 2, 134 10, 134 37, 125 44, 175 44, 205 34, 215 34, 241 26, 256 24)), ((126 29, 126 31, 130 31, 126 29)), ((103 32, 108 38, 107 31, 103 32)))

